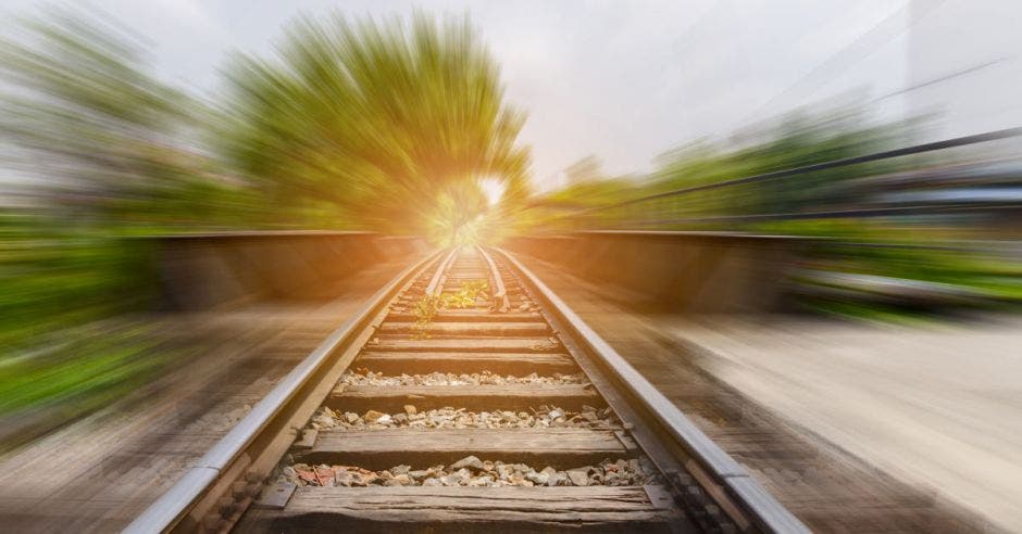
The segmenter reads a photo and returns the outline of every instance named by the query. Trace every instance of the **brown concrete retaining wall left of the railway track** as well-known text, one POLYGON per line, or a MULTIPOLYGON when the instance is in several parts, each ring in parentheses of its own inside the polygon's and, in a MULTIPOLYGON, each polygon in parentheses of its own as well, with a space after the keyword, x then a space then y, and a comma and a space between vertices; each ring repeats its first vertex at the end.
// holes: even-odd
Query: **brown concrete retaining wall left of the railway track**
POLYGON ((428 250, 421 238, 370 232, 234 232, 152 238, 162 309, 259 300, 329 298, 345 278, 428 250))

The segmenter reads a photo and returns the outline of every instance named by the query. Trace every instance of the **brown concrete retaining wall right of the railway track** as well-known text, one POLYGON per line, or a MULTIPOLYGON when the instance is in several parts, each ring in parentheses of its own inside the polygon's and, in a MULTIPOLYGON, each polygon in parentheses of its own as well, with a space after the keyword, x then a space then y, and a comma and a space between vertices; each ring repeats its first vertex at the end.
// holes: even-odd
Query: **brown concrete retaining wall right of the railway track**
POLYGON ((578 232, 504 246, 611 283, 658 308, 762 313, 787 308, 788 271, 805 242, 718 232, 578 232))

